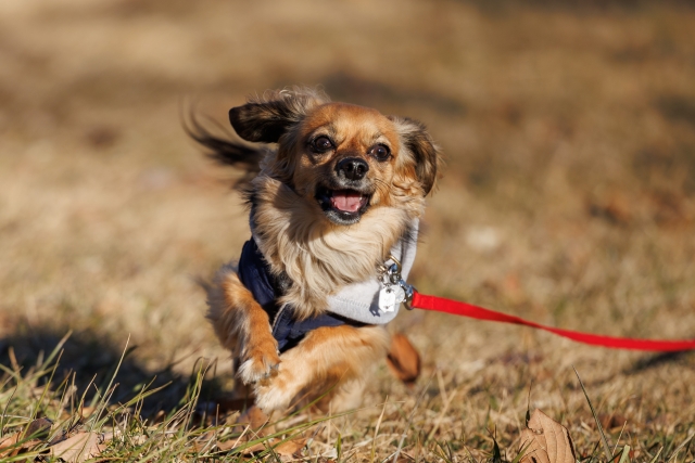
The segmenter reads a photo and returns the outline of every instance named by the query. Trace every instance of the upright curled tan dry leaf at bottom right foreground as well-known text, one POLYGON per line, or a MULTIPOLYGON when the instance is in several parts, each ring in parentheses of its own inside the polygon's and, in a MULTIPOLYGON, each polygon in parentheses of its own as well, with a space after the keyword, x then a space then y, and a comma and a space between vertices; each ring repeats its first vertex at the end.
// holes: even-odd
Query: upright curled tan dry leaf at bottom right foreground
POLYGON ((534 410, 528 427, 521 432, 520 463, 574 463, 574 446, 567 428, 534 410))

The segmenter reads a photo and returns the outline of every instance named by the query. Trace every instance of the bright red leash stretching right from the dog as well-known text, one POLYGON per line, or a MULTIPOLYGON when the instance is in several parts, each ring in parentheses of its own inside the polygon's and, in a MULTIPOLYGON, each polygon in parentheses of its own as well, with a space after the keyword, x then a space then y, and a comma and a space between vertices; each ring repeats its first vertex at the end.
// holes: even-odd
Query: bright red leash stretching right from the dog
POLYGON ((414 292, 412 307, 438 312, 452 313, 454 316, 468 317, 477 320, 489 320, 493 322, 514 323, 532 326, 539 330, 548 331, 557 335, 568 337, 578 343, 590 344, 592 346, 610 347, 614 349, 633 350, 655 350, 660 352, 678 352, 695 349, 695 339, 690 340, 656 340, 656 339, 630 339, 626 337, 601 336, 597 334, 579 333, 570 330, 545 326, 539 323, 523 320, 519 317, 495 312, 473 306, 472 304, 458 303, 443 297, 426 296, 414 292))

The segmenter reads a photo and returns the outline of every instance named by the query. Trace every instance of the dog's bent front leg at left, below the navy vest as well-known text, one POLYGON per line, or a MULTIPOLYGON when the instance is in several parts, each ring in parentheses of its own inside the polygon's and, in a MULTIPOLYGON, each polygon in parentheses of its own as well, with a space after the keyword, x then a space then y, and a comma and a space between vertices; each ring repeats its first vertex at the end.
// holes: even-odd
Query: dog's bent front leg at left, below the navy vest
POLYGON ((252 384, 276 374, 280 358, 268 314, 232 268, 223 267, 217 274, 208 304, 215 334, 239 360, 239 378, 252 384))

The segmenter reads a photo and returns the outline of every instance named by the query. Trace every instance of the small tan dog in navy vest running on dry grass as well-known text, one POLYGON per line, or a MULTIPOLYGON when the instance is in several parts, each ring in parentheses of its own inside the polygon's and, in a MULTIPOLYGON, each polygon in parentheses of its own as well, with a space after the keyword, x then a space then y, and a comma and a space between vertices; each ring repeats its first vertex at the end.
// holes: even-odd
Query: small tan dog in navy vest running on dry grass
POLYGON ((384 325, 400 304, 381 300, 393 290, 383 269, 407 275, 440 150, 414 119, 309 88, 250 98, 229 120, 242 140, 191 134, 244 172, 252 237, 207 286, 236 393, 265 413, 301 400, 353 409, 389 351, 384 325))

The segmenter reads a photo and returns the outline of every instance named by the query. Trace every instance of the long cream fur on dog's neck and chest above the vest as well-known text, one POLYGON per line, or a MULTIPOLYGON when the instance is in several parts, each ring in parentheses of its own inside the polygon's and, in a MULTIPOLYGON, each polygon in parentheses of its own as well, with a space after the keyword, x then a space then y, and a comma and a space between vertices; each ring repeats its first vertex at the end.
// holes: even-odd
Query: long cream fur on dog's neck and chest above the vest
POLYGON ((260 175, 252 182, 251 227, 274 275, 285 281, 279 303, 298 318, 327 310, 327 297, 374 278, 412 220, 407 209, 380 207, 358 223, 337 227, 282 182, 260 175))

